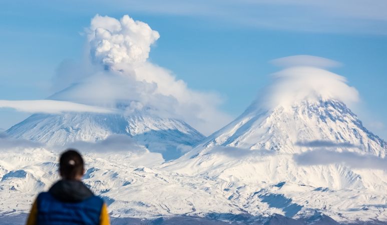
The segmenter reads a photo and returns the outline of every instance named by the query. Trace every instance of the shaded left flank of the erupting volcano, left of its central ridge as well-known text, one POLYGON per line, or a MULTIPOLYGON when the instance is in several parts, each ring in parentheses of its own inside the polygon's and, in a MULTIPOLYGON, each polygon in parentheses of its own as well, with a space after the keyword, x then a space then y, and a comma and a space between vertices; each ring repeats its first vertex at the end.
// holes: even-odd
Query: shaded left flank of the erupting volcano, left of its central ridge
POLYGON ((9 136, 48 144, 96 141, 112 133, 125 134, 127 122, 115 114, 33 114, 6 131, 9 136))

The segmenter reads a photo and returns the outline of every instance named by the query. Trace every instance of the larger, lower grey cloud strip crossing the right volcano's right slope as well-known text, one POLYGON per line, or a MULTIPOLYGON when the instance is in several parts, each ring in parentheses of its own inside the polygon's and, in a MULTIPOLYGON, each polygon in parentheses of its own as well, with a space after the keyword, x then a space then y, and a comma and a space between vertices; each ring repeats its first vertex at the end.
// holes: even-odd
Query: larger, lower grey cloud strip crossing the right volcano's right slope
POLYGON ((326 165, 341 163, 352 168, 387 169, 387 158, 365 155, 350 151, 331 151, 318 149, 294 154, 294 161, 299 165, 326 165))

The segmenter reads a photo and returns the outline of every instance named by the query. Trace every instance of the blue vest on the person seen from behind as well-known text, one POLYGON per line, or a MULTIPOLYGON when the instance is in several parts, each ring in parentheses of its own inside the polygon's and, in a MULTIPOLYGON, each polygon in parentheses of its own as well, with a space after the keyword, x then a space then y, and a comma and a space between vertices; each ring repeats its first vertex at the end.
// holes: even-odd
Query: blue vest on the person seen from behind
POLYGON ((91 196, 81 202, 62 202, 51 193, 42 192, 38 195, 38 225, 67 224, 100 224, 100 216, 104 201, 98 196, 91 196))

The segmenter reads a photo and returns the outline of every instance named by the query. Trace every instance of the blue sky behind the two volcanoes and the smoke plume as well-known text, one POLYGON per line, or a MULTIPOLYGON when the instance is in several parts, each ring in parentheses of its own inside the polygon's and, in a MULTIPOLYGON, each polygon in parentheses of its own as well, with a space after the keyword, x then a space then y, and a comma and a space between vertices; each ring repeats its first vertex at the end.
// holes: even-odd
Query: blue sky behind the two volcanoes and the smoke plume
MULTIPOLYGON (((149 60, 192 89, 215 91, 221 110, 240 114, 278 70, 270 60, 297 54, 342 63, 361 101, 353 111, 387 139, 387 3, 367 1, 7 1, 0 7, 0 99, 43 99, 65 60, 85 54, 84 28, 97 13, 128 14, 160 33, 149 60)), ((0 128, 28 113, 0 111, 0 128)))

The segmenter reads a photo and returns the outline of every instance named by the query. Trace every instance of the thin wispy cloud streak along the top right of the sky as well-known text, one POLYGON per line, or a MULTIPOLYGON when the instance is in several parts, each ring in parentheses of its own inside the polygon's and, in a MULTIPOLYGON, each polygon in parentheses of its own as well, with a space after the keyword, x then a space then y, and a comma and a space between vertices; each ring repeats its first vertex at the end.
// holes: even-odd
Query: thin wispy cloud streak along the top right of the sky
POLYGON ((132 10, 182 16, 201 16, 227 21, 234 26, 310 32, 387 34, 387 2, 375 0, 168 0, 130 5, 132 10), (232 15, 232 16, 230 16, 232 15), (318 25, 316 25, 318 24, 318 25), (377 25, 375 25, 377 24, 377 25))

